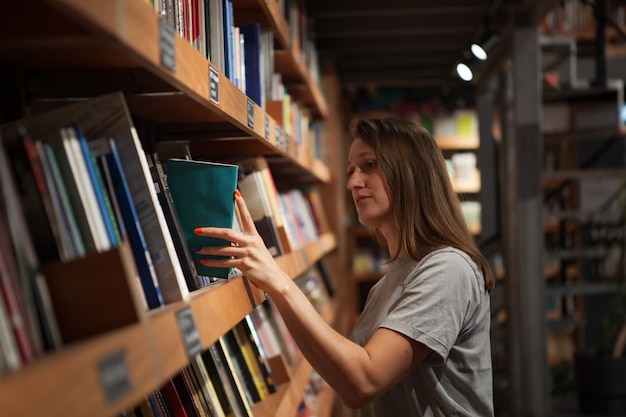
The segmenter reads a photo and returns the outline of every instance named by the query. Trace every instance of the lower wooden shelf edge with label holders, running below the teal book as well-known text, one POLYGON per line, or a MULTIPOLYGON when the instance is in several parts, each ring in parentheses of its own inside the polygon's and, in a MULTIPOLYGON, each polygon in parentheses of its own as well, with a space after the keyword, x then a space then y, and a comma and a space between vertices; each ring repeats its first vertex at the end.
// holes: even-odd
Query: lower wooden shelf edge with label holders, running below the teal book
MULTIPOLYGON (((334 245, 333 236, 324 235, 319 242, 282 256, 278 261, 287 265, 297 264, 297 268, 287 270, 292 278, 296 278, 302 268, 312 266, 333 250, 334 245), (301 263, 304 252, 309 256, 308 265, 301 263)), ((242 278, 212 284, 191 293, 189 301, 147 312, 140 323, 72 344, 18 372, 2 376, 2 411, 15 416, 104 417, 119 413, 136 404, 187 364, 189 358, 177 322, 177 312, 191 308, 202 347, 206 349, 256 305, 258 302, 248 297, 242 278), (123 397, 107 402, 98 377, 98 363, 119 351, 124 352, 131 387, 123 397), (54 383, 42 384, 42 381, 54 383), (28 393, 28 401, 24 400, 24 393, 28 393), (68 414, 68 410, 72 412, 68 414)), ((303 370, 299 372, 310 375, 310 365, 302 362, 303 370)), ((301 396, 303 388, 284 389, 289 392, 300 390, 301 396)))

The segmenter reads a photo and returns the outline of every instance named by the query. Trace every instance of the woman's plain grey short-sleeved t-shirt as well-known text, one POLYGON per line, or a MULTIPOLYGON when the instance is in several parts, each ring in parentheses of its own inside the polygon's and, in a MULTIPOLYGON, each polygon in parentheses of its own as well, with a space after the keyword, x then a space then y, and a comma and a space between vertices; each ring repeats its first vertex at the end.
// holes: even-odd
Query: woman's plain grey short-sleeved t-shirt
POLYGON ((464 252, 436 250, 389 264, 351 339, 364 346, 385 327, 428 346, 424 362, 358 410, 362 417, 493 416, 489 294, 464 252))

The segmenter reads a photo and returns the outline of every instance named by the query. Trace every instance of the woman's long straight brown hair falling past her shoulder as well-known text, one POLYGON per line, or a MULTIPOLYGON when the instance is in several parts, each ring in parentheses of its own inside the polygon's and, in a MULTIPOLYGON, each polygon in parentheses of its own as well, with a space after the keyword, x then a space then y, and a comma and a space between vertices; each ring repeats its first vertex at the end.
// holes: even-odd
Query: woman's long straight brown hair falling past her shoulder
MULTIPOLYGON (((400 230, 400 252, 419 261, 433 250, 457 248, 478 265, 490 291, 495 284, 493 274, 467 226, 443 154, 432 135, 396 117, 358 119, 351 130, 352 137, 371 146, 377 156, 400 230)), ((377 237, 384 242, 380 233, 377 237)))

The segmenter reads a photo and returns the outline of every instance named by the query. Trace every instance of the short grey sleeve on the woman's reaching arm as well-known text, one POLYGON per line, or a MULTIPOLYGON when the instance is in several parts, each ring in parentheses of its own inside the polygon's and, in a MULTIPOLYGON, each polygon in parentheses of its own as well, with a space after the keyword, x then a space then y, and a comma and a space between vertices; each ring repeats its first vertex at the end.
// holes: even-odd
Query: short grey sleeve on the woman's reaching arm
POLYGON ((477 272, 470 262, 452 249, 425 257, 402 282, 400 296, 380 327, 429 347, 429 365, 445 363, 475 298, 477 272))

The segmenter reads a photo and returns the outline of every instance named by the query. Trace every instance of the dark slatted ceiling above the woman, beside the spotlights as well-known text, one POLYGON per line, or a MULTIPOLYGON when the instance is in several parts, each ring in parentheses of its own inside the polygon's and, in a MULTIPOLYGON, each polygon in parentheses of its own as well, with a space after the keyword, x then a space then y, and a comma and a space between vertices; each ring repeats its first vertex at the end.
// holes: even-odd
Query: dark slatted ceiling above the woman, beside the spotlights
POLYGON ((423 101, 471 93, 456 63, 513 16, 542 13, 535 3, 551 1, 307 0, 306 7, 320 60, 333 63, 346 92, 401 91, 423 101))

